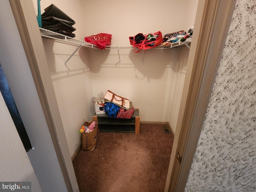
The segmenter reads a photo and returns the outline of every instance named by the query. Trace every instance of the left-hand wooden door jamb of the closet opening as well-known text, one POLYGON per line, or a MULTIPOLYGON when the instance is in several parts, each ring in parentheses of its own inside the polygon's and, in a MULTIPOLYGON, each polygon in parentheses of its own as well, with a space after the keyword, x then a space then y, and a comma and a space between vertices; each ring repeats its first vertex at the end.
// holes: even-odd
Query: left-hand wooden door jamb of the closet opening
POLYGON ((36 17, 31 17, 34 6, 27 0, 9 0, 20 39, 26 54, 44 118, 50 132, 56 156, 68 192, 79 191, 74 167, 70 158, 66 136, 47 65, 42 37, 36 17))

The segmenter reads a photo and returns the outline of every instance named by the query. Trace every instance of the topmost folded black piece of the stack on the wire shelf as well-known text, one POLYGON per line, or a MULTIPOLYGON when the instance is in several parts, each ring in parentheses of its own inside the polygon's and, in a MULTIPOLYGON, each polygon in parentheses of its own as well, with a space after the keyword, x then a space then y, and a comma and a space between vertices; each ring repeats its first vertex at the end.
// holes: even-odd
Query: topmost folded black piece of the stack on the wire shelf
POLYGON ((53 16, 56 18, 60 18, 63 20, 67 20, 71 23, 75 24, 75 21, 72 20, 66 13, 64 13, 62 10, 60 10, 58 7, 56 7, 54 4, 51 4, 47 8, 44 9, 44 13, 41 15, 43 17, 53 16))

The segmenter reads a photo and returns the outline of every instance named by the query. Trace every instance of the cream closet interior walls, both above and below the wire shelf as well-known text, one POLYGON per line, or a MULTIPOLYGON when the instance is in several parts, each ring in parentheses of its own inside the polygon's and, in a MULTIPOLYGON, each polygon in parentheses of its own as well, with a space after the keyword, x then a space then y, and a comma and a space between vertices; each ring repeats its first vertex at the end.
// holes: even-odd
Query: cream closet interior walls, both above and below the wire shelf
MULTIPOLYGON (((37 10, 36 0, 33 0, 37 10)), ((98 33, 112 34, 112 45, 130 45, 129 36, 139 32, 157 32, 162 35, 188 31, 194 24, 198 0, 176 1, 118 1, 100 0, 44 0, 41 13, 50 4, 75 20, 76 38, 98 33), (157 5, 156 5, 157 3, 157 5)), ((112 90, 129 98, 140 109, 141 121, 169 122, 173 131, 180 106, 180 98, 188 48, 146 50, 144 64, 142 52, 119 50, 94 50, 80 48, 64 66, 66 59, 76 49, 43 40, 56 98, 72 156, 80 144, 78 129, 83 119, 91 120, 90 99, 98 92, 112 90)))

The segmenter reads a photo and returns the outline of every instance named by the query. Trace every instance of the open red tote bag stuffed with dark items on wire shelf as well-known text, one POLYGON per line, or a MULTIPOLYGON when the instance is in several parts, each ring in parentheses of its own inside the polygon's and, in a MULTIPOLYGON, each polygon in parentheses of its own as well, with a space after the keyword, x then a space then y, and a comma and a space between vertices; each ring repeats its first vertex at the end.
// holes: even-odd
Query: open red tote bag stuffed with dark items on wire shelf
POLYGON ((162 33, 160 31, 156 33, 142 34, 138 33, 136 36, 129 37, 130 44, 133 46, 134 53, 140 52, 142 49, 150 49, 159 46, 163 42, 162 33), (135 51, 138 48, 138 51, 135 51))

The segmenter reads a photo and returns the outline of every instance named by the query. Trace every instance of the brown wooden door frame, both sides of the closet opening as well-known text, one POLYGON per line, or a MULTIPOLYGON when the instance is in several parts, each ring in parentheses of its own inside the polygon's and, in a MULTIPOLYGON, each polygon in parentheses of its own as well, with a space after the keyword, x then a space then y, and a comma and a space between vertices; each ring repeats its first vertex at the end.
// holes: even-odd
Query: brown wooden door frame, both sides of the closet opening
MULTIPOLYGON (((78 186, 37 21, 27 0, 9 0, 68 191, 78 186)), ((199 0, 165 192, 181 192, 192 165, 236 0, 199 0), (176 160, 177 152, 182 156, 176 160)), ((34 9, 34 7, 33 7, 34 9)))

